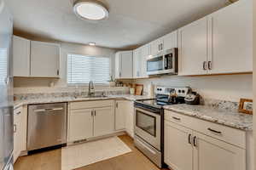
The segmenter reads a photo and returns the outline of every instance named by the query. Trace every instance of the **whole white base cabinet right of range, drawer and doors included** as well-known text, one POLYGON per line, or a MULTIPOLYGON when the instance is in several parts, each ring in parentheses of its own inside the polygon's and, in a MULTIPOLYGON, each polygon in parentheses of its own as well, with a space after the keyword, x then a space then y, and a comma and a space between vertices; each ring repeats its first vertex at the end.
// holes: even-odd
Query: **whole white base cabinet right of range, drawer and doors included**
POLYGON ((249 170, 244 131, 165 111, 165 162, 173 170, 249 170))

